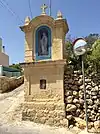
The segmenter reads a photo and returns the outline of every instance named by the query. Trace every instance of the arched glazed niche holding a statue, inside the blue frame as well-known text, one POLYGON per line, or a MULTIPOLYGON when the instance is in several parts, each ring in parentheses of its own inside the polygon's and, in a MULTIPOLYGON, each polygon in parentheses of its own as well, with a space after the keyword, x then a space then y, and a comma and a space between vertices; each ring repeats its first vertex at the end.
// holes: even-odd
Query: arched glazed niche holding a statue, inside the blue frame
POLYGON ((41 26, 36 30, 36 60, 51 58, 51 29, 41 26))

